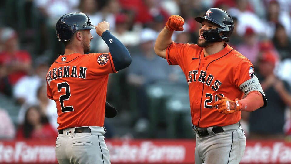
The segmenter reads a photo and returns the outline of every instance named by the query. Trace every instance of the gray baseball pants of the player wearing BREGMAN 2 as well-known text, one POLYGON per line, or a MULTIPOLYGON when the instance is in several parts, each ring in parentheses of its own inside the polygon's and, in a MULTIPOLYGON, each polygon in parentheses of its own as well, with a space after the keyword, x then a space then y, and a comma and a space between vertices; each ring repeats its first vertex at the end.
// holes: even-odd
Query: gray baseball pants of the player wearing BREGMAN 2
POLYGON ((63 129, 55 143, 59 164, 110 164, 104 141, 106 129, 89 126, 90 133, 74 133, 75 128, 63 129))

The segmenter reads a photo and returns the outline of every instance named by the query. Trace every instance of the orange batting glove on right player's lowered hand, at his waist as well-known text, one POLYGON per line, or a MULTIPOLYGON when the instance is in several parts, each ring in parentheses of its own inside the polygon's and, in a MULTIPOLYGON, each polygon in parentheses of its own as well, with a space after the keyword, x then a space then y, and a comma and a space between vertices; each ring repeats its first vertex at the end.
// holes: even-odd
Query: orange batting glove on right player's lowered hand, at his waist
POLYGON ((218 111, 222 114, 230 114, 235 111, 241 111, 242 105, 239 103, 239 100, 236 98, 235 101, 229 100, 227 97, 222 97, 219 94, 216 94, 219 98, 212 106, 217 105, 218 111))

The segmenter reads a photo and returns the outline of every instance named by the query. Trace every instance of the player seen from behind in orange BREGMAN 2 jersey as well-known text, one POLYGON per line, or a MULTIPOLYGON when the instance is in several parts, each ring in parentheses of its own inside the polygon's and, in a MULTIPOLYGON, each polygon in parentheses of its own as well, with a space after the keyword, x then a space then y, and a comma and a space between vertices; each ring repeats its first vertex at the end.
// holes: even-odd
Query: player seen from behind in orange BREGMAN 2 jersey
POLYGON ((59 42, 65 44, 50 67, 47 97, 55 100, 59 135, 56 156, 60 164, 109 164, 104 142, 104 116, 114 117, 116 110, 105 99, 108 74, 131 63, 126 47, 109 32, 109 23, 91 25, 87 15, 74 12, 63 15, 56 23, 59 42), (109 53, 90 53, 90 30, 95 29, 109 47, 109 53))

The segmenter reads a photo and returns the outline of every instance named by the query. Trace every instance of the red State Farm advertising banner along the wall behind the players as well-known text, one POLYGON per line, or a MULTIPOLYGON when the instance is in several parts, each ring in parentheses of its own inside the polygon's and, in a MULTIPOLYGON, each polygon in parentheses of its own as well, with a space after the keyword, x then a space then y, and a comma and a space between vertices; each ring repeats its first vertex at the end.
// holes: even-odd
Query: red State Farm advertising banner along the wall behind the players
MULTIPOLYGON (((112 164, 193 164, 195 140, 106 140, 112 164)), ((55 140, 0 141, 0 163, 57 164, 55 140)), ((291 143, 247 140, 241 163, 290 163, 291 143)))

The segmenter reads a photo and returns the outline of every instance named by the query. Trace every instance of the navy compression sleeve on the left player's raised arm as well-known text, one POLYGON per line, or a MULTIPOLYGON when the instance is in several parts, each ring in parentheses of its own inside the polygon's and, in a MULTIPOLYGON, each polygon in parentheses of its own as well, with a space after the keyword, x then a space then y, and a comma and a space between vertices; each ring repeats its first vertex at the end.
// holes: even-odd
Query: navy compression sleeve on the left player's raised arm
POLYGON ((101 37, 109 48, 115 70, 119 71, 128 67, 131 63, 131 57, 127 48, 108 30, 103 32, 101 37))

